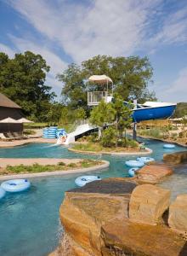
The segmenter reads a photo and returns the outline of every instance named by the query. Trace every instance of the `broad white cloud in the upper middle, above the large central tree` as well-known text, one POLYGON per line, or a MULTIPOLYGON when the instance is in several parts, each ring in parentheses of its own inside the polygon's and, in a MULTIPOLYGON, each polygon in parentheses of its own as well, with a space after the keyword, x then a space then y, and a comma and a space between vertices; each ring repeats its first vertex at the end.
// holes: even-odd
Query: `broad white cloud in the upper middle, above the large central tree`
POLYGON ((85 6, 80 2, 10 1, 37 31, 58 42, 78 62, 98 54, 131 55, 144 41, 149 17, 160 2, 95 0, 85 6))

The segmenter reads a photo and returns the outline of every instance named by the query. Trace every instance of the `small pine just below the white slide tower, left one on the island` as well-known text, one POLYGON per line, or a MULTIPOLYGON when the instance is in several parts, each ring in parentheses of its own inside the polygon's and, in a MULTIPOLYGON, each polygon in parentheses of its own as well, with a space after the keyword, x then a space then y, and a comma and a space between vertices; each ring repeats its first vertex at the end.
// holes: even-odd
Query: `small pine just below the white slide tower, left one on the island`
POLYGON ((90 113, 90 122, 99 127, 99 139, 102 137, 102 131, 105 125, 111 124, 115 119, 115 109, 112 108, 111 103, 104 101, 99 102, 90 113))

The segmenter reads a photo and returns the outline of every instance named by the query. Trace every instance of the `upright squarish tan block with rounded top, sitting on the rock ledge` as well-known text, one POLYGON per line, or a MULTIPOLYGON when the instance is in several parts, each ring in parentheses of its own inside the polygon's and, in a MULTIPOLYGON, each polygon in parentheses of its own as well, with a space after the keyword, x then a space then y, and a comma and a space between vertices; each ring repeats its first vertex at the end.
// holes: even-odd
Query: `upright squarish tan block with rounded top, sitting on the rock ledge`
POLYGON ((169 207, 171 192, 154 185, 144 184, 133 189, 129 203, 131 221, 158 224, 163 212, 169 207))

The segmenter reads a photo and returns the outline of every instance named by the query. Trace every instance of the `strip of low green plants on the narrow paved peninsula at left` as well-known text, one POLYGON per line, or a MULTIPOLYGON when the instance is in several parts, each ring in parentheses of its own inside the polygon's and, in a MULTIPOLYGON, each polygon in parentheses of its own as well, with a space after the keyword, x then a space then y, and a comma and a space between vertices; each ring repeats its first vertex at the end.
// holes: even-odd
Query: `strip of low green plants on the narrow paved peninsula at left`
POLYGON ((77 163, 65 164, 64 162, 59 162, 57 165, 46 165, 42 166, 39 164, 34 164, 32 166, 7 166, 6 168, 0 169, 0 174, 20 174, 20 173, 37 173, 37 172, 54 172, 54 171, 68 171, 72 169, 88 168, 92 166, 99 166, 103 162, 99 160, 80 160, 77 163))

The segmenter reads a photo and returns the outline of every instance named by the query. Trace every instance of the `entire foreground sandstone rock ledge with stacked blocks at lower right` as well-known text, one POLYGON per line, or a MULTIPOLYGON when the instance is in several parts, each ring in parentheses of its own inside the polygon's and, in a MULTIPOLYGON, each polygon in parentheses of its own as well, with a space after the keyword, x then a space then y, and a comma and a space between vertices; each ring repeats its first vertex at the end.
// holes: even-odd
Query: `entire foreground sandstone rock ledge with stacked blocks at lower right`
MULTIPOLYGON (((187 230, 181 205, 179 198, 170 209, 169 190, 127 178, 72 189, 59 210, 65 235, 51 255, 187 255, 186 241, 178 235, 187 230)), ((186 212, 187 204, 183 207, 186 212)))

